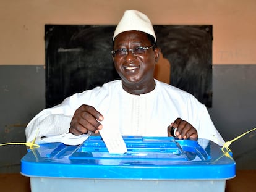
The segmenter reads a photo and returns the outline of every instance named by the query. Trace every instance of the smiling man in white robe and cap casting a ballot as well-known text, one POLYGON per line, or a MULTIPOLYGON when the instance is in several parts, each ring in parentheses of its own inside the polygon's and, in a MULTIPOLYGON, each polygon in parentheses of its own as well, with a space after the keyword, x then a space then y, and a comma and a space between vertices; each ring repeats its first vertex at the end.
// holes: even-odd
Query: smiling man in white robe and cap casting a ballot
POLYGON ((112 56, 121 80, 74 94, 41 111, 26 128, 27 140, 32 141, 37 130, 40 138, 98 133, 106 128, 122 135, 199 137, 224 144, 203 104, 154 79, 160 49, 146 15, 137 10, 124 12, 114 31, 112 56))

